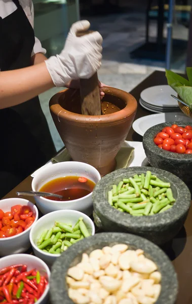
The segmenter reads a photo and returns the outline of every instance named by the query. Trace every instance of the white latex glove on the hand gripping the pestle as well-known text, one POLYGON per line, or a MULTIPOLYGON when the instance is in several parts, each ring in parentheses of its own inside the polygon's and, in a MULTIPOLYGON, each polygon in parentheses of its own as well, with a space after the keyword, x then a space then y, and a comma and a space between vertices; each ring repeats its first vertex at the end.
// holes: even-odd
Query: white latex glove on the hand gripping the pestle
POLYGON ((89 27, 87 20, 72 24, 62 52, 45 61, 56 87, 79 78, 89 79, 101 66, 102 36, 99 32, 76 37, 78 31, 87 31, 89 27))

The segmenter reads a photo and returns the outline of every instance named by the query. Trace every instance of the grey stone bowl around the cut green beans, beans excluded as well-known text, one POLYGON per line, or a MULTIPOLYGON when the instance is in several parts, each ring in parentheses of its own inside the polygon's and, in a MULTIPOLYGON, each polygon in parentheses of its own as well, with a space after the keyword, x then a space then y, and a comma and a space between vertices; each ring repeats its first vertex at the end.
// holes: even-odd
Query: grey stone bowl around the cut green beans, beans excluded
POLYGON ((190 192, 182 180, 167 171, 150 167, 131 167, 104 176, 96 184, 92 200, 95 222, 104 231, 127 232, 162 245, 170 241, 182 228, 190 207, 190 192), (113 184, 118 184, 123 178, 129 178, 134 174, 146 174, 147 170, 161 180, 171 182, 173 196, 176 199, 171 209, 150 216, 132 216, 109 205, 107 193, 113 184))

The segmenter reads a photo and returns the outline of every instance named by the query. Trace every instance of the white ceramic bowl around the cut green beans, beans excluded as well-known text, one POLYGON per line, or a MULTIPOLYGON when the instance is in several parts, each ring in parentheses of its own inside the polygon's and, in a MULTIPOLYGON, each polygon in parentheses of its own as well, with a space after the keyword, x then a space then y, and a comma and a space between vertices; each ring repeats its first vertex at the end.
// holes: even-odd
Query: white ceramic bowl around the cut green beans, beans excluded
POLYGON ((80 217, 83 217, 84 223, 86 224, 89 233, 94 236, 95 226, 91 218, 86 214, 76 210, 54 211, 42 216, 39 220, 37 220, 35 225, 33 225, 29 236, 34 254, 44 260, 49 266, 51 266, 56 258, 60 256, 60 254, 51 254, 40 250, 36 246, 37 240, 40 238, 45 229, 50 229, 54 226, 55 221, 72 224, 72 226, 74 226, 80 217))

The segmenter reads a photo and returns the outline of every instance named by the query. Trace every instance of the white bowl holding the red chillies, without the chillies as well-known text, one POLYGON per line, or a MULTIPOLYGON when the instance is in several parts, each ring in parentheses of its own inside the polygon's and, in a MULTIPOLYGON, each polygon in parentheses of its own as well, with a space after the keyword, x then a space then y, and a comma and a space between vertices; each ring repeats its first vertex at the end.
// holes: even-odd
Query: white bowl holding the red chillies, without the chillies
MULTIPOLYGON (((30 254, 13 254, 9 256, 2 257, 0 259, 0 269, 4 267, 8 267, 13 264, 26 264, 27 271, 31 269, 39 270, 40 275, 44 275, 47 277, 48 281, 50 281, 50 270, 46 263, 42 261, 40 258, 30 255, 30 254)), ((47 285, 42 296, 35 302, 35 304, 47 304, 49 302, 49 284, 47 285)))

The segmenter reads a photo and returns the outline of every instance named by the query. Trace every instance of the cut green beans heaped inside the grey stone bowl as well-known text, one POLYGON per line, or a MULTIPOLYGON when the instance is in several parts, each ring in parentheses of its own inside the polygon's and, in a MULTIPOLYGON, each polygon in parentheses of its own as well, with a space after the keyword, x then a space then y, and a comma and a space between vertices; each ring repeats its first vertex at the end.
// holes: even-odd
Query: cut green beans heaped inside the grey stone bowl
POLYGON ((133 216, 162 213, 175 202, 170 182, 163 182, 150 171, 123 178, 108 191, 109 204, 133 216))

